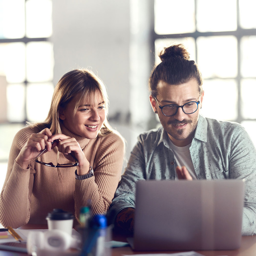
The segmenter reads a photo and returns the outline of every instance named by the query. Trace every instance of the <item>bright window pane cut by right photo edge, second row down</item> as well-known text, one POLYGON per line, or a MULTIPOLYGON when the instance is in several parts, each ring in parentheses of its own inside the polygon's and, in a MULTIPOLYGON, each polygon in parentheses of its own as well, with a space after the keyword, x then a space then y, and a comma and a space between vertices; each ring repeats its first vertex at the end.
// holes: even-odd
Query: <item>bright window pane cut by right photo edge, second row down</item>
POLYGON ((244 77, 256 76, 255 49, 256 36, 243 36, 241 38, 241 74, 244 77))

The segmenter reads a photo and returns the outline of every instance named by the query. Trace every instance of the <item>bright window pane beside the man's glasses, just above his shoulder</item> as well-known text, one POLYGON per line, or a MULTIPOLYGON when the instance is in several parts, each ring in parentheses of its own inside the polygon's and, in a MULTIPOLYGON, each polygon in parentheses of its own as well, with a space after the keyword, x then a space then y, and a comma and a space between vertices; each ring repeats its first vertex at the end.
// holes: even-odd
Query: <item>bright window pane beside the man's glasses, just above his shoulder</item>
POLYGON ((205 80, 201 113, 218 120, 236 120, 237 84, 235 79, 205 80))

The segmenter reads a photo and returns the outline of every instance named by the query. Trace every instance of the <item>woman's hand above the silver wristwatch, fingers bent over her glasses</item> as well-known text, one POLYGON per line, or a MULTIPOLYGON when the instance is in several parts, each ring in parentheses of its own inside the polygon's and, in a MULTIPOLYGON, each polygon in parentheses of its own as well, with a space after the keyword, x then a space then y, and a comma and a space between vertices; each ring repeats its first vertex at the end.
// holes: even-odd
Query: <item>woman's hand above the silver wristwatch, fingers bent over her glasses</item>
POLYGON ((84 175, 89 172, 90 163, 84 156, 84 152, 75 138, 59 133, 49 138, 48 142, 51 143, 53 140, 60 140, 57 147, 59 152, 61 152, 68 160, 74 162, 74 157, 76 158, 79 163, 77 166, 78 175, 84 175))

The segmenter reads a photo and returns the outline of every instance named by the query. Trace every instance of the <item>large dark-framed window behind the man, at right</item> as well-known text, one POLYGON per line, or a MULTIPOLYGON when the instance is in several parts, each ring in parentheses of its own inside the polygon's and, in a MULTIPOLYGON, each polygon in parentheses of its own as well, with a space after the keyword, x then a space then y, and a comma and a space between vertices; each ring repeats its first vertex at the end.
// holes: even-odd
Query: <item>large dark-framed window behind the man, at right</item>
POLYGON ((204 78, 202 114, 241 123, 256 145, 255 7, 253 0, 155 0, 153 40, 156 63, 163 47, 185 45, 204 78))

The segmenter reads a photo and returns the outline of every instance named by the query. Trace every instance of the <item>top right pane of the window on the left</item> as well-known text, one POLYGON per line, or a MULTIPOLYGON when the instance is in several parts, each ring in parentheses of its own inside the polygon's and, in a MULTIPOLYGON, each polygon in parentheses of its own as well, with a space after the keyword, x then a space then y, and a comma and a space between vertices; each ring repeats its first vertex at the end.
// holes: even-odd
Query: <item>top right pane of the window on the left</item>
POLYGON ((49 37, 52 35, 52 1, 26 1, 27 37, 49 37))

